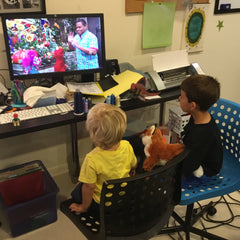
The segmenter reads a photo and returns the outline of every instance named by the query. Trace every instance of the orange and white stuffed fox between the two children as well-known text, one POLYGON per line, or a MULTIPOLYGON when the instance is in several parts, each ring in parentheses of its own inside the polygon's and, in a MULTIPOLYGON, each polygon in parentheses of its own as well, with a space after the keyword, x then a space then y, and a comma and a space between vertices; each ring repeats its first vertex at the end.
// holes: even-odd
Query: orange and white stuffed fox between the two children
POLYGON ((167 161, 184 150, 183 144, 166 143, 161 130, 155 126, 151 126, 145 132, 142 142, 145 145, 144 153, 147 157, 143 162, 143 168, 146 171, 151 171, 156 164, 165 165, 167 161))

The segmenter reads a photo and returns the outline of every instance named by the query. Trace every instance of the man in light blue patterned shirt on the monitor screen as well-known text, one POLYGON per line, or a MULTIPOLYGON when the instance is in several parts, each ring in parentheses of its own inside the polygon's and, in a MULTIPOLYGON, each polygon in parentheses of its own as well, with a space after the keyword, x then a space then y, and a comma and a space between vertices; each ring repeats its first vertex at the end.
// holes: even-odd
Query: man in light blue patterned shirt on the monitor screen
POLYGON ((77 69, 99 68, 98 63, 98 39, 88 30, 84 19, 78 19, 76 22, 76 32, 68 34, 69 48, 74 47, 77 55, 77 69))

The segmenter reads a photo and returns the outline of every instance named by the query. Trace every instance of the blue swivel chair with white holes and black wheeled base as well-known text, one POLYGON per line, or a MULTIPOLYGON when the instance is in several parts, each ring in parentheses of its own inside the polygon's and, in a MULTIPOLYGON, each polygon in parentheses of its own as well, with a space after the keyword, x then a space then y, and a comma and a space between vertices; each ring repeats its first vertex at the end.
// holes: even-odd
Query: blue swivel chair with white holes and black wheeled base
MULTIPOLYGON (((180 205, 187 205, 185 219, 173 212, 178 226, 168 227, 162 234, 184 231, 186 240, 190 233, 200 235, 207 239, 224 240, 225 238, 194 227, 194 224, 207 211, 213 214, 213 202, 195 214, 194 203, 213 197, 223 196, 240 189, 240 104, 226 99, 219 99, 210 109, 223 143, 223 167, 217 176, 204 179, 193 178, 191 181, 182 181, 182 196, 180 205)), ((226 239, 225 239, 226 240, 226 239)))

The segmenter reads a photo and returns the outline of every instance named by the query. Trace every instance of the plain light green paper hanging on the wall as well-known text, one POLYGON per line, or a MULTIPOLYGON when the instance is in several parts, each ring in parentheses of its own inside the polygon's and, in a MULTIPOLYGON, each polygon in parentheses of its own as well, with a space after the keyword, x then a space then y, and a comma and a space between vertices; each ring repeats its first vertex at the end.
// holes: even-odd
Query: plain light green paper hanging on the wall
POLYGON ((176 3, 145 3, 143 11, 143 48, 166 47, 172 44, 176 3))

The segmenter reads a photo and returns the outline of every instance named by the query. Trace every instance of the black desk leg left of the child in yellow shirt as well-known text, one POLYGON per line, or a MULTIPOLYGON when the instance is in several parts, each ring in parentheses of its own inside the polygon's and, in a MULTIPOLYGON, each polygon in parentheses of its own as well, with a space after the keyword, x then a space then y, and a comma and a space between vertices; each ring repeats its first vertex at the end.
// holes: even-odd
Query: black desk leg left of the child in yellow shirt
POLYGON ((71 124, 71 144, 72 144, 72 154, 71 161, 68 164, 70 177, 73 183, 78 181, 78 176, 80 173, 80 164, 78 156, 78 136, 77 136, 77 123, 71 124))

